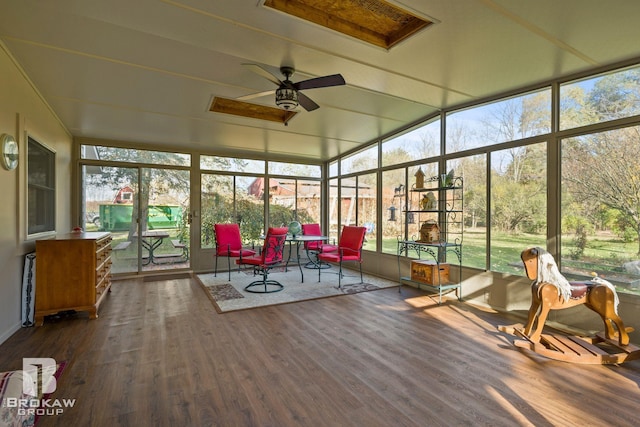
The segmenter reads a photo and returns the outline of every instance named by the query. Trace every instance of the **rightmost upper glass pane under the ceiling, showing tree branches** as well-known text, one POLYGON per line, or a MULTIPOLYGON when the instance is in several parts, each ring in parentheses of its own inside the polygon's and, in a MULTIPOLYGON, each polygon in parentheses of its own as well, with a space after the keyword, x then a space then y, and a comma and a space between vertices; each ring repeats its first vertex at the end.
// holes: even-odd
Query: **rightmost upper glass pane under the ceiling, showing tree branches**
POLYGON ((560 85, 560 129, 640 114, 640 67, 560 85))

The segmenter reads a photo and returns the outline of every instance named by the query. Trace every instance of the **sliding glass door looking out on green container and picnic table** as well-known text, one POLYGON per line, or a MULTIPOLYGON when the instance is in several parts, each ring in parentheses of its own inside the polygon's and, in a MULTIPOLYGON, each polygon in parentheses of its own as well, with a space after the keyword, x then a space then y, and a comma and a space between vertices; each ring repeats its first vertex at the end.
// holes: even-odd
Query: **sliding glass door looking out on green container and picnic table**
POLYGON ((171 167, 83 165, 85 231, 112 235, 112 273, 190 268, 190 173, 171 167))

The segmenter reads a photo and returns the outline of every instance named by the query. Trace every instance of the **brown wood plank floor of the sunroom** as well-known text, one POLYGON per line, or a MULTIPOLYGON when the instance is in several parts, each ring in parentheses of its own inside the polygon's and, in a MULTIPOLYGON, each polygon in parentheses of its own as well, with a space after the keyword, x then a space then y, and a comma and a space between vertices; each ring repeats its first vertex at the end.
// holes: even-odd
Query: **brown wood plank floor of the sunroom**
POLYGON ((517 350, 503 315, 404 287, 226 314, 189 278, 116 281, 97 320, 18 331, 68 365, 46 426, 631 426, 640 361, 588 366, 517 350))

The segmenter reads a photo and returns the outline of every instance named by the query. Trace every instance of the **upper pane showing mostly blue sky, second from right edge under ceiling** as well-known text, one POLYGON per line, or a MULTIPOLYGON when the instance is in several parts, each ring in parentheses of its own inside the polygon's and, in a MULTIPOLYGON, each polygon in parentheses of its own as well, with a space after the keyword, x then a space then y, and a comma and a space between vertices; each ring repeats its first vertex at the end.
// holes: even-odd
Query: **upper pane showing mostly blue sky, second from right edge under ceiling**
POLYGON ((542 135, 551 131, 551 89, 447 115, 447 153, 542 135))

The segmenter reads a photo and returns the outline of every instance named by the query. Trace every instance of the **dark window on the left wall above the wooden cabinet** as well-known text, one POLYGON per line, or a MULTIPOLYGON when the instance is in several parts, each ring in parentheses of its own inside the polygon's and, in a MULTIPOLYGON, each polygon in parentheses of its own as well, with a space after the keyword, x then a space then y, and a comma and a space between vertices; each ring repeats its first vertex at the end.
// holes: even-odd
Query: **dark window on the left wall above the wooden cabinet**
POLYGON ((27 146, 27 234, 55 232, 56 155, 29 137, 27 146))

